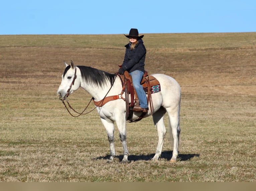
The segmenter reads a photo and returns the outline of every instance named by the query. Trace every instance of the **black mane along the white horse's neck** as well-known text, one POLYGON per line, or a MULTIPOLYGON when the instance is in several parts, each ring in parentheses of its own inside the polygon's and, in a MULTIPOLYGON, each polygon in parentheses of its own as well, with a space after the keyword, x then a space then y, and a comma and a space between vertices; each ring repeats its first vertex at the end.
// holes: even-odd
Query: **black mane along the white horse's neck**
POLYGON ((102 70, 98 70, 95 68, 91 68, 88 66, 77 66, 81 71, 81 76, 84 80, 86 80, 91 85, 96 85, 103 87, 110 82, 112 86, 115 80, 116 75, 110 74, 102 70))

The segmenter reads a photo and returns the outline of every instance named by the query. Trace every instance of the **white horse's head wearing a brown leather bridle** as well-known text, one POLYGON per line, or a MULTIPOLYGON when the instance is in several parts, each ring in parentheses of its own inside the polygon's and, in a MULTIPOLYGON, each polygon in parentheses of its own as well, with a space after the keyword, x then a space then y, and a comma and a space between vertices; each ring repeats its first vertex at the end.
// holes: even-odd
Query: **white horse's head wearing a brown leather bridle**
POLYGON ((80 80, 76 80, 77 78, 77 67, 71 61, 71 64, 66 64, 66 69, 62 75, 62 81, 57 91, 57 96, 59 99, 64 100, 74 91, 76 91, 80 87, 80 80), (75 82, 76 81, 76 82, 75 82))

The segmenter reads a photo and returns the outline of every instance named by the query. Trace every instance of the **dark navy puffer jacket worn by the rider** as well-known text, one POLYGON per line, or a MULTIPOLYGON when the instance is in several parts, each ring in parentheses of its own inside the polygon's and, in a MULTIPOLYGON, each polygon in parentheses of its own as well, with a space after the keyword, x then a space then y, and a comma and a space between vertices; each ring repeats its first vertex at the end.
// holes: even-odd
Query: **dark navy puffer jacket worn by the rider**
POLYGON ((140 39, 135 46, 135 49, 130 50, 131 44, 128 43, 125 45, 125 56, 122 68, 127 70, 129 73, 135 70, 140 70, 145 72, 144 70, 144 62, 146 58, 146 48, 143 44, 143 41, 140 39))

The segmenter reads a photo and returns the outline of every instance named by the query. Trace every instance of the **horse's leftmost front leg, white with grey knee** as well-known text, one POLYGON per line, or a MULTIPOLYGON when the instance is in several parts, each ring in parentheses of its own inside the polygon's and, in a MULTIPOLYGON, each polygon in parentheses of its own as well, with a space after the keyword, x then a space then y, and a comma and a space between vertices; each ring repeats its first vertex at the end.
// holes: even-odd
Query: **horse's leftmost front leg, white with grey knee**
POLYGON ((114 130, 115 125, 114 122, 109 122, 104 118, 101 118, 101 122, 107 130, 109 146, 110 146, 110 159, 107 160, 108 163, 112 163, 114 161, 115 153, 115 139, 114 139, 114 130))

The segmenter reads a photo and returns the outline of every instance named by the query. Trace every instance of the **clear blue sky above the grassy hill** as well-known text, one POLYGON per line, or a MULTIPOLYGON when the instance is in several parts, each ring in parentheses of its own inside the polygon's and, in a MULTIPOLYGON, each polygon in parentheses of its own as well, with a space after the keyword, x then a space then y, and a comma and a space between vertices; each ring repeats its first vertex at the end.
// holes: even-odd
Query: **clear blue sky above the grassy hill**
POLYGON ((8 0, 0 35, 256 32, 256 0, 8 0))

